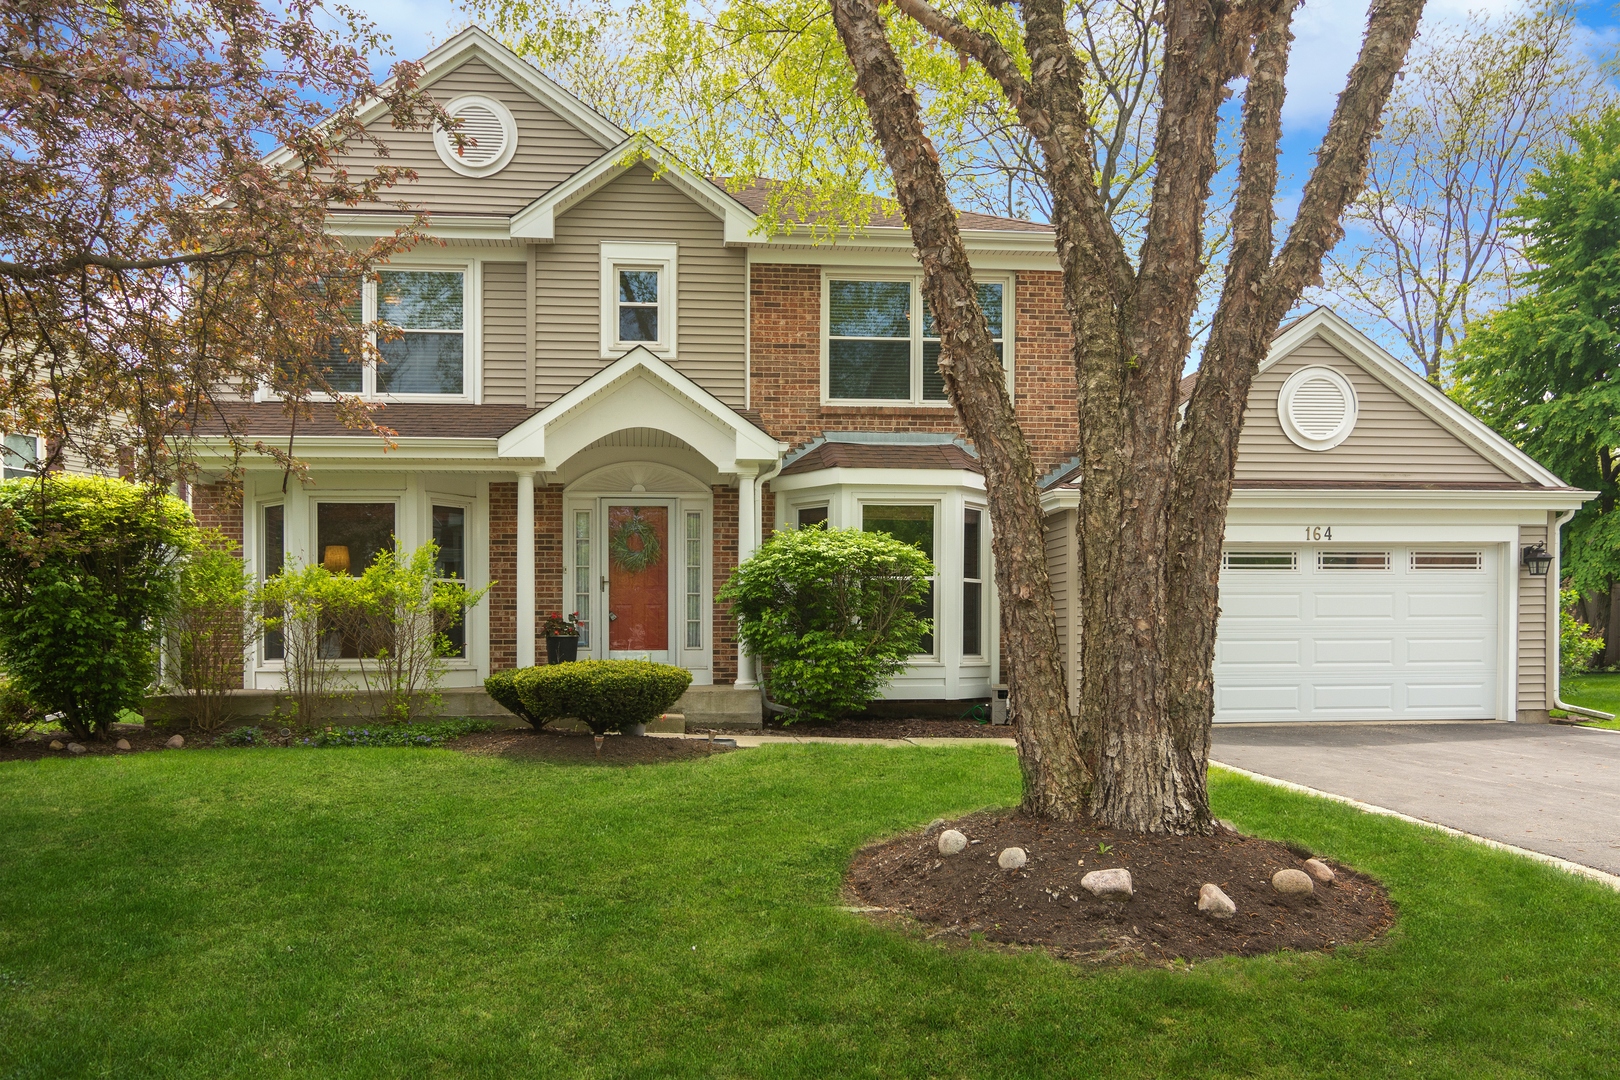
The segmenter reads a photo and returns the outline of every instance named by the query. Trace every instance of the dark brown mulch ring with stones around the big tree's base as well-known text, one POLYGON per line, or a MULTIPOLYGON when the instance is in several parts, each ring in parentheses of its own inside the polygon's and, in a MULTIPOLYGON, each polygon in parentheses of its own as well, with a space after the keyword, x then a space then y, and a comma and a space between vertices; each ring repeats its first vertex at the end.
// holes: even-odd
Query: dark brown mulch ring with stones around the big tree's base
POLYGON ((1336 879, 1319 882, 1312 895, 1272 889, 1273 873, 1302 870, 1304 858, 1223 827, 1210 837, 1136 836, 987 811, 865 848, 846 891, 852 904, 876 908, 868 915, 922 923, 930 939, 1035 946, 1115 963, 1332 950, 1395 921, 1379 882, 1328 860, 1336 879), (967 836, 967 850, 940 855, 948 827, 967 836), (1008 847, 1029 853, 1022 870, 996 865, 1008 847), (1087 873, 1116 866, 1131 871, 1131 900, 1100 900, 1081 887, 1087 873), (1233 918, 1199 913, 1204 882, 1231 897, 1233 918))

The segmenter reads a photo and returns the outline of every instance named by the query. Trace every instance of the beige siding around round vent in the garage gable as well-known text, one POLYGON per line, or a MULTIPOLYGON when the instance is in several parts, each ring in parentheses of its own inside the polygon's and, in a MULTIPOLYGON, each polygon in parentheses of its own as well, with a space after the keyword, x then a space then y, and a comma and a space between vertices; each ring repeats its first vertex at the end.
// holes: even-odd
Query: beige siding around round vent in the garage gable
POLYGON ((1482 481, 1518 479, 1419 413, 1388 385, 1312 337, 1254 381, 1238 444, 1238 481, 1482 481), (1356 390, 1356 427, 1332 450, 1294 445, 1277 419, 1283 381, 1306 366, 1332 368, 1356 390))

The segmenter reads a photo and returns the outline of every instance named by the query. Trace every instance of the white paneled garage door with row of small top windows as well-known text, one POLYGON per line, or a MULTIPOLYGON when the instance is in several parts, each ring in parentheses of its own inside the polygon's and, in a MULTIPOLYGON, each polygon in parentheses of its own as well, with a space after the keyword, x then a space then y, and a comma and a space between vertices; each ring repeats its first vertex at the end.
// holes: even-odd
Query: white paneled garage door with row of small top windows
POLYGON ((1495 547, 1228 547, 1217 721, 1490 719, 1495 547))

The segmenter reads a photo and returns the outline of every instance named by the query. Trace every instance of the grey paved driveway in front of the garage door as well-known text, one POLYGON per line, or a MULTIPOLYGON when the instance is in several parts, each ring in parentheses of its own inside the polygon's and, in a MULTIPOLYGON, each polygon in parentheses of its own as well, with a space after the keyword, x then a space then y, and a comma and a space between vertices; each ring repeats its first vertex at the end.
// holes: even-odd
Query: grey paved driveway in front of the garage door
POLYGON ((1215 761, 1620 874, 1620 732, 1215 725, 1215 761))

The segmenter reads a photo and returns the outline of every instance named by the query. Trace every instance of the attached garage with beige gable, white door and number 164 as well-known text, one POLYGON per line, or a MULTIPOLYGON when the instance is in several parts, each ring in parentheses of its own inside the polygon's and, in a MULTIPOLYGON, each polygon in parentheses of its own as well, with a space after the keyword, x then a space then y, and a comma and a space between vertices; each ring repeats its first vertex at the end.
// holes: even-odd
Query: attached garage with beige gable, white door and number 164
MULTIPOLYGON (((1071 670, 1077 484, 1074 461, 1043 495, 1071 670)), ((1555 554, 1589 497, 1333 313, 1294 321, 1254 379, 1238 444, 1215 721, 1545 722, 1557 563, 1536 573, 1526 555, 1555 554)))

